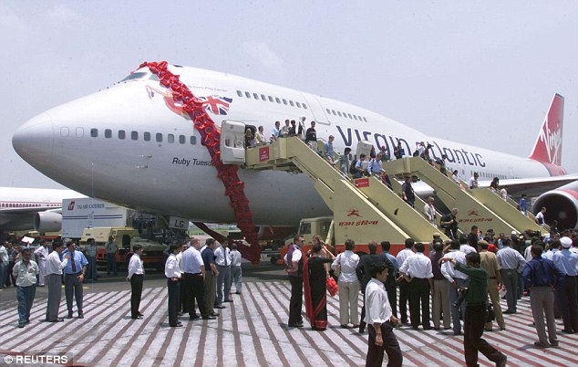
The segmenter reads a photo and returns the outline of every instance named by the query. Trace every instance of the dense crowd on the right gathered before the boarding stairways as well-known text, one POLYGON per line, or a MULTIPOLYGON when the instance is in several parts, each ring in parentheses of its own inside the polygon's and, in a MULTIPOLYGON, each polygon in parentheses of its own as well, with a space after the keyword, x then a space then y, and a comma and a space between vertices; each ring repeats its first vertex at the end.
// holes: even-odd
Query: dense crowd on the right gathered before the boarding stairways
POLYGON ((325 330, 326 284, 334 270, 340 327, 369 332, 366 365, 381 365, 384 352, 388 365, 401 365, 403 356, 394 334, 398 325, 451 330, 463 335, 467 365, 477 365, 479 351, 496 365, 505 365, 506 355, 482 335, 496 324, 506 330, 503 315, 517 313, 517 301, 524 296, 530 298, 536 348, 559 346, 554 318, 562 318, 563 333, 577 333, 578 234, 564 231, 546 242, 532 236, 532 231, 494 236, 488 229, 481 234, 473 225, 469 234, 445 242, 439 233, 428 244, 408 238, 397 256, 389 253, 389 242, 381 243, 381 253, 377 242, 370 242, 369 254, 362 257, 356 255, 351 239, 335 257, 318 237, 309 252, 302 252, 304 237, 295 236, 284 257, 292 286, 288 326, 304 326, 304 297, 312 329, 325 330), (364 294, 361 305, 359 292, 364 294), (503 311, 501 296, 508 305, 503 311))

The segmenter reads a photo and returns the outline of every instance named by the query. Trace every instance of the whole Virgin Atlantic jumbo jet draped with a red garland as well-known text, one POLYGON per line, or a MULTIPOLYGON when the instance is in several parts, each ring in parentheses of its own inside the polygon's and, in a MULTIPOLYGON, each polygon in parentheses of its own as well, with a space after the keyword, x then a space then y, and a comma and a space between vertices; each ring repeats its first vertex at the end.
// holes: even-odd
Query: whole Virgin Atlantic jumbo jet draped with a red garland
POLYGON ((535 205, 552 207, 547 221, 576 226, 578 183, 561 166, 560 95, 553 97, 530 156, 522 158, 433 138, 371 110, 303 91, 201 68, 145 63, 111 88, 27 121, 15 131, 13 145, 58 183, 139 211, 221 223, 239 223, 243 212, 240 227, 296 225, 303 217, 331 215, 309 177, 229 170, 219 161, 218 140, 221 121, 241 121, 253 129, 263 125, 268 138, 274 121, 300 117, 305 128, 316 122, 317 137, 334 135, 339 152, 346 146, 355 152, 357 142, 366 140, 389 152, 400 142, 410 155, 423 141, 433 146, 434 158, 446 154, 449 169, 463 179, 474 172, 480 181, 499 177, 511 194, 552 190, 535 205))

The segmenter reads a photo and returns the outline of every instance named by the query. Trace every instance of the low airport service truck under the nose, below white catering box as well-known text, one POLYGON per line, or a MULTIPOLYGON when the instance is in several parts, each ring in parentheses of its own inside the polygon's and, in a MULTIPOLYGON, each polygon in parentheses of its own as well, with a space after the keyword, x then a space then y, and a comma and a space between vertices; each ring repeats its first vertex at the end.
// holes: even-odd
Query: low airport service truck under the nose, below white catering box
POLYGON ((139 244, 143 247, 140 257, 145 267, 154 267, 158 270, 164 268, 167 246, 159 242, 139 237, 139 232, 131 227, 94 227, 85 228, 80 238, 81 246, 87 244, 88 238, 94 238, 97 244, 97 263, 106 264, 107 254, 105 245, 108 237, 112 236, 119 245, 117 251, 117 267, 128 267, 129 259, 133 254, 133 246, 139 244))

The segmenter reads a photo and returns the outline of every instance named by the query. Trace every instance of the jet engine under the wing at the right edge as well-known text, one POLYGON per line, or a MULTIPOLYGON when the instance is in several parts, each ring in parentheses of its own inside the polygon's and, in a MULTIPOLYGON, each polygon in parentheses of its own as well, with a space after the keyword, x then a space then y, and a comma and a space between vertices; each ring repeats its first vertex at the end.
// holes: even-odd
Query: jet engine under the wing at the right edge
POLYGON ((538 196, 532 205, 532 213, 540 212, 542 206, 546 208, 546 223, 551 224, 555 219, 559 230, 578 228, 578 182, 538 196))

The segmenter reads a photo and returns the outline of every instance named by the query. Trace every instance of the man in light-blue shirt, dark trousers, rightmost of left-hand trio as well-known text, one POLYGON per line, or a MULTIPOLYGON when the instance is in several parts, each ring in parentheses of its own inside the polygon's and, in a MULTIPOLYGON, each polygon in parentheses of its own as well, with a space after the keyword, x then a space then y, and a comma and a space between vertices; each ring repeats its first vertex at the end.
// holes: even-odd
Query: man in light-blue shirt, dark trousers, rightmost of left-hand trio
POLYGON ((73 295, 77 301, 78 319, 84 319, 82 282, 87 271, 88 260, 82 252, 77 251, 74 240, 67 238, 64 240, 64 244, 67 246, 64 256, 70 257, 67 266, 64 267, 64 294, 67 298, 68 319, 72 319, 73 295))

